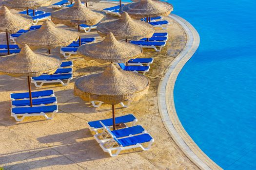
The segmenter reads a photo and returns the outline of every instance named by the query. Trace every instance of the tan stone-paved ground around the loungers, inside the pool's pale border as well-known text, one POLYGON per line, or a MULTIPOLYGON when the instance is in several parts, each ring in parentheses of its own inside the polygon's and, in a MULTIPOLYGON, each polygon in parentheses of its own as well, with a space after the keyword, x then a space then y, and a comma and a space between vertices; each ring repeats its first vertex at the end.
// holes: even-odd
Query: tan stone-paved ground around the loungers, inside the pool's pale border
MULTIPOLYGON (((93 7, 102 9, 111 3, 95 3, 93 7)), ((52 11, 51 8, 43 9, 52 11)), ((107 18, 112 18, 108 16, 107 18)), ((140 149, 122 152, 118 157, 104 153, 90 133, 87 122, 112 117, 111 106, 103 104, 94 108, 89 102, 73 95, 74 82, 79 76, 101 72, 106 67, 93 60, 86 61, 74 55, 67 60, 74 63, 74 79, 67 86, 44 85, 32 90, 53 89, 58 98, 59 113, 55 119, 29 117, 16 122, 10 117, 10 93, 27 91, 26 78, 0 76, 0 167, 10 170, 195 170, 191 162, 178 148, 166 131, 158 112, 157 88, 165 69, 182 51, 186 34, 182 28, 168 17, 170 22, 168 42, 161 52, 144 50, 141 57, 153 57, 154 63, 146 74, 151 80, 149 93, 139 102, 132 102, 128 108, 117 105, 117 116, 133 113, 148 133, 155 138, 151 151, 140 149)), ((96 31, 83 32, 82 37, 98 36, 96 31)), ((5 34, 0 34, 1 44, 5 34)), ((97 41, 102 38, 97 37, 97 41)), ((46 50, 40 50, 45 51, 46 50)), ((59 54, 59 48, 53 54, 59 54)), ((60 55, 61 56, 61 55, 60 55)), ((62 57, 64 60, 64 58, 62 57)))

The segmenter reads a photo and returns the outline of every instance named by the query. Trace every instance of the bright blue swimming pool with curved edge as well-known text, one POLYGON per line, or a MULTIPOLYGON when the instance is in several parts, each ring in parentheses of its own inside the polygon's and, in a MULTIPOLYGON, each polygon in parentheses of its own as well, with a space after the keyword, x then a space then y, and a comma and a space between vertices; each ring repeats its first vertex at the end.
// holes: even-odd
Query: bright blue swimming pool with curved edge
POLYGON ((256 169, 256 1, 172 0, 200 35, 177 77, 177 115, 225 170, 256 169))

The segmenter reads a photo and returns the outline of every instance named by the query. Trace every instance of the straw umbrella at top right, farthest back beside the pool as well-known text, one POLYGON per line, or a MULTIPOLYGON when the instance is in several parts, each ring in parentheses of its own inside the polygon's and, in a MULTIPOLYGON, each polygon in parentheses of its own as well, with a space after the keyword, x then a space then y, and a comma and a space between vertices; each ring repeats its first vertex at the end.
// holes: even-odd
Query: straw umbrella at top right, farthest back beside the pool
POLYGON ((173 11, 173 5, 160 0, 139 0, 124 5, 120 10, 136 19, 147 17, 148 22, 148 17, 168 16, 173 11))

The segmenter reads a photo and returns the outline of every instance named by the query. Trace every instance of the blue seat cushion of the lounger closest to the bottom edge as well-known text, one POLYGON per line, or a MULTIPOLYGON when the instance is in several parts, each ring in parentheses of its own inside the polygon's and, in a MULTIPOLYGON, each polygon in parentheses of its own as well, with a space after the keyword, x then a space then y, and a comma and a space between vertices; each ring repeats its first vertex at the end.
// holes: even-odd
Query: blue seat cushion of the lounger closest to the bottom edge
POLYGON ((117 141, 119 145, 125 146, 131 146, 136 145, 137 143, 146 143, 152 140, 153 138, 149 134, 142 134, 138 136, 132 136, 132 137, 125 137, 121 139, 117 139, 114 137, 114 139, 117 141))

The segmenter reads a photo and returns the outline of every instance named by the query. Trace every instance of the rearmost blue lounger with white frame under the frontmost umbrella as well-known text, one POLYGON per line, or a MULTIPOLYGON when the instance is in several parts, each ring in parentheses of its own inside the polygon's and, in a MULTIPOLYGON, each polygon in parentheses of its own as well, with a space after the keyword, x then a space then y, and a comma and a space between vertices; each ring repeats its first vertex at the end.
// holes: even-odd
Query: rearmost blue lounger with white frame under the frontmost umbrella
MULTIPOLYGON (((105 125, 105 126, 113 126, 113 119, 102 119, 102 120, 96 120, 96 121, 89 121, 87 124, 89 126, 90 131, 95 132, 98 134, 99 130, 104 129, 104 127, 101 125, 100 121, 105 125)), ((132 123, 132 126, 136 124, 138 119, 133 115, 125 115, 125 116, 120 116, 116 117, 116 123, 132 123)))

